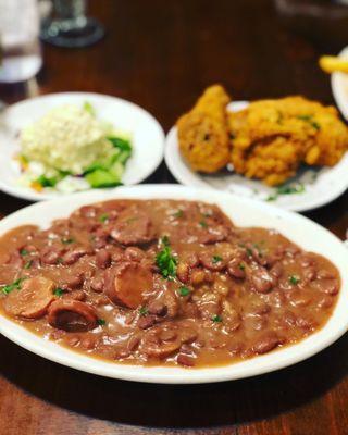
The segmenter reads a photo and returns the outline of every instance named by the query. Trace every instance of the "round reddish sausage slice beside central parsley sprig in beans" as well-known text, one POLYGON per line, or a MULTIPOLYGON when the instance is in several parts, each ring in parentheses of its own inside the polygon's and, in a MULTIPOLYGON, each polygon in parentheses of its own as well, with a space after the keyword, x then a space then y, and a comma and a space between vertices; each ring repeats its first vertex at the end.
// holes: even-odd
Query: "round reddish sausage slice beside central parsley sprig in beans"
POLYGON ((137 308, 144 302, 145 291, 153 286, 152 273, 137 262, 126 262, 107 275, 105 294, 112 302, 127 308, 137 308))

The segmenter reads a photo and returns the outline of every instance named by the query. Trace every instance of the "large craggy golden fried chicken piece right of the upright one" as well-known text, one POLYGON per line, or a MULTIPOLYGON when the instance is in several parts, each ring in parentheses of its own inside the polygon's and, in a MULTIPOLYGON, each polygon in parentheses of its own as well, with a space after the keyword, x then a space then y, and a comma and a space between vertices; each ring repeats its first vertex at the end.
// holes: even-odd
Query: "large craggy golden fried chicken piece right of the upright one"
POLYGON ((302 97, 254 101, 228 123, 235 171, 270 186, 294 176, 301 162, 332 166, 348 148, 336 109, 302 97))

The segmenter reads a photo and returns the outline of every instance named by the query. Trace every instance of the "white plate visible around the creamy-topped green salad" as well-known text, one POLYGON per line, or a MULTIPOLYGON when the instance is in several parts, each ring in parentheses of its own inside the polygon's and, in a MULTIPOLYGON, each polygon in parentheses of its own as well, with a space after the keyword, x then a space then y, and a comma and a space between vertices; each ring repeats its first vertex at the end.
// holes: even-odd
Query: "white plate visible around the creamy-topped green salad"
MULTIPOLYGON (((164 132, 158 121, 140 107, 120 98, 91 92, 61 92, 30 98, 10 105, 0 115, 0 189, 32 201, 53 199, 66 194, 37 192, 17 185, 20 166, 13 160, 18 152, 18 132, 61 104, 90 102, 100 120, 132 135, 133 156, 122 177, 124 185, 146 179, 163 159, 164 132)), ((110 190, 110 189, 108 189, 110 190)), ((100 189, 98 189, 100 191, 100 189)))

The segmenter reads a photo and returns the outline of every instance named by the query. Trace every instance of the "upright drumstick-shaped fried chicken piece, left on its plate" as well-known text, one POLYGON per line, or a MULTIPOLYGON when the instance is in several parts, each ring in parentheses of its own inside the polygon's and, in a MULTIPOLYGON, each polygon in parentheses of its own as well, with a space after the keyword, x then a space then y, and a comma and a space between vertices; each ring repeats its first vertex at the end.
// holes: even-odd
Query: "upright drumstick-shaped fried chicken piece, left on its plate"
POLYGON ((179 149, 194 171, 213 173, 228 163, 228 102, 222 86, 211 86, 177 121, 179 149))

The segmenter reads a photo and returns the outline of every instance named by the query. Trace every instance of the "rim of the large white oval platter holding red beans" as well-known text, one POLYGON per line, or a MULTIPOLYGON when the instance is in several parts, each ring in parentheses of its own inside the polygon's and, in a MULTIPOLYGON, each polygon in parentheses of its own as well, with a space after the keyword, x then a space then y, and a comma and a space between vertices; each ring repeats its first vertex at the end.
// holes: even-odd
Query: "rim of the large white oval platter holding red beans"
MULTIPOLYGON (((117 199, 120 198, 139 198, 144 199, 146 197, 149 198, 182 198, 182 199, 195 199, 196 197, 199 199, 208 198, 208 202, 220 202, 223 201, 237 201, 240 204, 247 204, 248 207, 254 208, 256 210, 263 210, 265 213, 273 215, 274 217, 285 219, 290 223, 304 223, 307 226, 310 225, 313 227, 313 231, 322 233, 323 238, 330 238, 330 244, 335 247, 335 250, 344 252, 346 254, 346 247, 334 234, 328 232, 326 228, 320 226, 315 222, 309 220, 306 216, 300 214, 289 212, 287 210, 282 210, 274 206, 262 203, 256 201, 250 198, 238 197, 228 192, 215 191, 212 189, 198 189, 198 188, 188 188, 179 185, 171 185, 171 184, 160 184, 160 185, 138 185, 136 187, 122 187, 116 192, 108 192, 101 196, 97 196, 94 191, 79 192, 73 196, 66 196, 62 198, 58 198, 51 201, 41 201, 30 204, 24 209, 16 211, 15 213, 10 214, 0 221, 0 234, 3 234, 5 231, 9 231, 11 227, 15 227, 16 219, 21 217, 21 215, 25 215, 28 209, 30 210, 51 210, 51 206, 53 202, 58 202, 58 206, 61 203, 72 201, 75 199, 77 201, 72 206, 74 209, 80 207, 82 203, 91 203, 96 201, 103 201, 111 198, 117 199), (200 197, 201 196, 201 197, 200 197), (79 198, 78 198, 79 197, 79 198)), ((207 199, 204 199, 207 200, 207 199)), ((225 203, 225 202, 224 202, 225 203)), ((67 213, 64 211, 64 208, 61 208, 60 215, 64 216, 67 213)), ((36 213, 39 215, 40 213, 36 213)), ((51 213, 50 220, 57 217, 54 213, 51 213)), ((232 217, 233 219, 233 217, 232 217)), ((33 221, 32 221, 33 222, 33 221)), ((37 221, 36 221, 37 222, 37 221)), ((293 365, 297 362, 303 361, 313 355, 320 352, 325 349, 334 341, 336 341, 347 330, 348 330, 348 316, 344 322, 335 323, 335 327, 331 335, 326 336, 327 325, 331 324, 331 319, 334 319, 335 313, 338 310, 343 310, 345 307, 344 296, 348 295, 348 259, 344 258, 344 262, 347 263, 346 269, 340 270, 340 275, 343 278, 343 288, 339 294, 339 298, 337 300, 336 307, 332 316, 319 332, 310 335, 298 344, 288 346, 283 349, 275 350, 271 353, 266 353, 264 356, 254 357, 250 360, 232 363, 227 365, 209 368, 209 369, 181 369, 181 368, 149 368, 141 365, 130 365, 130 364, 117 364, 114 362, 105 362, 103 360, 99 360, 96 358, 87 357, 79 352, 63 348, 62 346, 47 341, 44 338, 37 336, 36 334, 27 331, 24 326, 16 324, 11 321, 9 318, 0 314, 0 333, 7 336, 9 339, 20 345, 21 347, 44 357, 50 361, 58 362, 60 364, 70 366, 72 369, 80 370, 84 372, 98 374, 107 377, 135 381, 135 382, 146 382, 146 383, 160 383, 160 384, 200 384, 200 383, 212 383, 212 382, 223 382, 223 381, 233 381, 237 378, 246 378, 250 376, 260 375, 263 373, 270 373, 275 370, 284 369, 286 366, 293 365), (346 286, 344 286, 346 284, 346 286), (345 295, 346 294, 346 295, 345 295), (20 337, 25 337, 20 338, 20 337), (315 343, 315 339, 320 337, 319 341, 315 343), (301 349, 301 351, 300 351, 301 349), (295 350, 295 351, 293 351, 295 350), (289 355, 288 355, 289 353, 289 355), (279 357, 281 356, 281 357, 279 357), (265 365, 262 362, 264 360, 271 360, 265 365), (249 362, 248 362, 249 361, 249 362), (251 361, 251 362, 250 362, 251 361), (95 364, 91 364, 95 362, 95 364), (261 368, 260 368, 261 363, 261 368), (244 365, 247 365, 247 370, 244 369, 244 365), (169 370, 170 369, 170 370, 169 370)), ((337 264, 336 264, 337 265, 337 264)), ((345 265, 346 266, 346 265, 345 265)), ((339 313, 339 311, 338 311, 339 313)), ((336 316, 339 314, 336 314, 336 316)), ((334 322, 334 321, 333 321, 334 322)))

